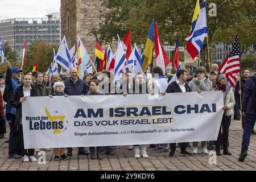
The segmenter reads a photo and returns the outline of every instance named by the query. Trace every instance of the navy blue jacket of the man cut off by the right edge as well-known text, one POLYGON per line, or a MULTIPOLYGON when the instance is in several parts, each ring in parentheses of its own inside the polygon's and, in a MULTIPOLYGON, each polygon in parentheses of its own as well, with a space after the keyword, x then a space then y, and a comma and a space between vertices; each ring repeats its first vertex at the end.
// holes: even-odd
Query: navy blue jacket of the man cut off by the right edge
MULTIPOLYGON (((254 78, 256 78, 256 73, 254 74, 254 78)), ((255 92, 256 92, 256 84, 251 78, 249 78, 246 81, 245 88, 243 90, 243 98, 242 98, 243 112, 256 115, 256 110, 253 108, 253 98, 254 98, 255 92)))

